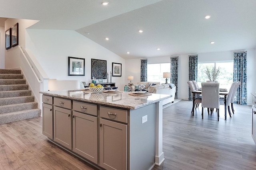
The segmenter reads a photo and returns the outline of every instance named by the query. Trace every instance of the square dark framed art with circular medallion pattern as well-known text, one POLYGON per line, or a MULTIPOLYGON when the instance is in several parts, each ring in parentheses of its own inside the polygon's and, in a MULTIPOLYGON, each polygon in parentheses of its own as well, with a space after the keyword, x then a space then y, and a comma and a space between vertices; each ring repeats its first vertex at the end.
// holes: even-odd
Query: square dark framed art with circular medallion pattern
POLYGON ((107 61, 106 60, 92 60, 92 78, 107 78, 107 61))

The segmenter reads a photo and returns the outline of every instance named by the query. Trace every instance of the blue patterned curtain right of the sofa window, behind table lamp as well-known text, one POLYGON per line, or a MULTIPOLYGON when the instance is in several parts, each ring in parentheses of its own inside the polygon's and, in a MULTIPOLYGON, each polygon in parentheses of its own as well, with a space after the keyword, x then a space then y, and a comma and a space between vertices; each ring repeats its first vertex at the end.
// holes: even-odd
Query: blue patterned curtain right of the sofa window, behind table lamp
POLYGON ((176 93, 175 93, 175 99, 178 99, 178 56, 176 57, 170 57, 170 65, 171 65, 171 83, 173 83, 176 86, 176 93))

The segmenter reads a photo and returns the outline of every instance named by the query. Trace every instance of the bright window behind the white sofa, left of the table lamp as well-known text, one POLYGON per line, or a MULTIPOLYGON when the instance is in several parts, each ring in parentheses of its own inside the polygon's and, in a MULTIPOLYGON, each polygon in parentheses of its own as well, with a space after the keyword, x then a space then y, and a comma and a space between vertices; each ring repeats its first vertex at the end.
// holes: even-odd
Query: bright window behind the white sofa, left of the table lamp
MULTIPOLYGON (((165 78, 163 78, 163 72, 170 71, 170 63, 148 64, 148 82, 165 83, 165 78)), ((170 82, 170 78, 168 79, 168 82, 170 82)))

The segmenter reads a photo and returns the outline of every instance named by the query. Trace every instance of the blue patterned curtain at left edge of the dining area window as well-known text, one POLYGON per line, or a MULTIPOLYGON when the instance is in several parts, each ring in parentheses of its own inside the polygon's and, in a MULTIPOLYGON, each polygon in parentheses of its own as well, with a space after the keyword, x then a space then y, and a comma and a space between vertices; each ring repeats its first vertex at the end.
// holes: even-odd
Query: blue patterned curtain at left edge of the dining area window
MULTIPOLYGON (((188 56, 188 80, 196 80, 197 81, 197 60, 198 55, 189 55, 188 56)), ((192 100, 192 94, 190 87, 188 86, 188 100, 192 100)))

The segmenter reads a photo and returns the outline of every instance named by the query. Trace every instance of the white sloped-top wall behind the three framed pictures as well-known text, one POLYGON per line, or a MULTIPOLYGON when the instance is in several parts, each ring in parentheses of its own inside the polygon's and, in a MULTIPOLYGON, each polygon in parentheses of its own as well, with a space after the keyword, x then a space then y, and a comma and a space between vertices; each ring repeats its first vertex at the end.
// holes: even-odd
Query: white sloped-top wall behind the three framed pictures
POLYGON ((109 73, 112 62, 122 63, 122 77, 112 77, 112 82, 124 86, 125 60, 76 31, 27 29, 26 49, 36 56, 49 78, 80 80, 86 84, 91 81, 91 59, 106 60, 109 73), (85 59, 85 76, 68 76, 68 57, 85 59))

